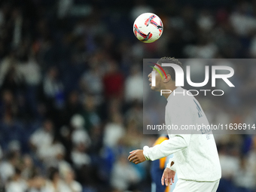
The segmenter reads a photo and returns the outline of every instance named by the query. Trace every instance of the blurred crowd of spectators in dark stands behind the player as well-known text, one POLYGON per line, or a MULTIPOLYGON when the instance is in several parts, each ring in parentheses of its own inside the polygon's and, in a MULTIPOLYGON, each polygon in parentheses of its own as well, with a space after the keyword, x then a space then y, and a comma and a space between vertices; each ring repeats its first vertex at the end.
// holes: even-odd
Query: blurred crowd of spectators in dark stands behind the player
MULTIPOLYGON (((162 56, 254 58, 256 2, 2 0, 0 191, 150 191, 150 163, 126 158, 157 137, 142 131, 142 59, 162 56), (133 35, 145 12, 163 20, 152 44, 133 35)), ((236 107, 203 99, 212 122, 256 123, 252 69, 236 107)), ((216 142, 218 191, 255 191, 255 137, 216 142)))

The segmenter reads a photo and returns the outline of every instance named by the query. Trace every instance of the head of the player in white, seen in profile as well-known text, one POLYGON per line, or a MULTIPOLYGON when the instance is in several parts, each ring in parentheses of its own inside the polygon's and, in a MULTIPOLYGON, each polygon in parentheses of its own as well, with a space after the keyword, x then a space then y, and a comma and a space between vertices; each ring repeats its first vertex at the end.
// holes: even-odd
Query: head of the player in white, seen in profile
MULTIPOLYGON (((181 62, 179 62, 178 59, 175 59, 174 57, 164 56, 157 61, 157 64, 159 66, 162 66, 162 63, 173 63, 182 68, 181 62)), ((176 78, 175 70, 172 67, 162 66, 162 69, 166 73, 166 75, 163 74, 163 71, 157 65, 154 66, 154 68, 158 69, 158 71, 161 73, 163 78, 161 77, 159 72, 155 72, 156 86, 152 87, 152 85, 150 84, 151 90, 154 90, 154 91, 166 90, 167 87, 169 87, 170 85, 175 85, 175 78, 176 78)), ((153 71, 156 71, 156 69, 153 69, 153 71)), ((149 78, 148 81, 151 81, 152 72, 148 75, 148 78, 149 78)))

